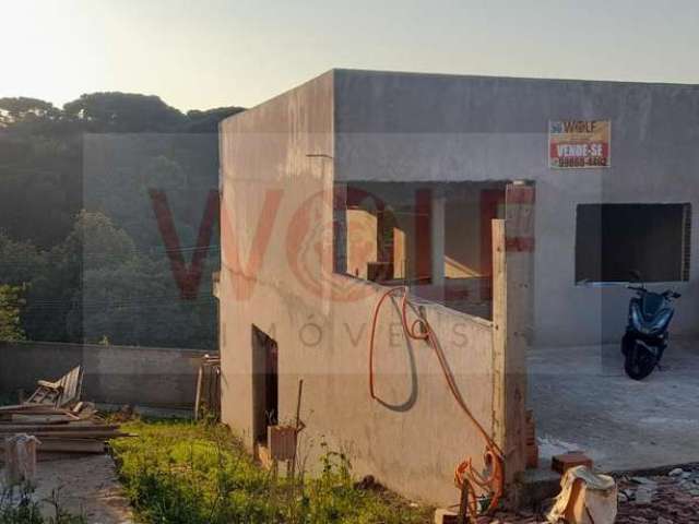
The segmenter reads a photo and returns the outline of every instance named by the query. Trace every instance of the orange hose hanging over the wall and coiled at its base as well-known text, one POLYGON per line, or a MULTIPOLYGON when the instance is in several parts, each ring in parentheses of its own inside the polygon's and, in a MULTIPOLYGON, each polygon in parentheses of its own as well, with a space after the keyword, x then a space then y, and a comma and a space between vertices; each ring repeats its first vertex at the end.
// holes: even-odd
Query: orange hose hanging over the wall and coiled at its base
POLYGON ((459 394, 459 388, 454 381, 454 378, 449 370, 448 362, 443 354, 439 350, 439 346, 437 343, 437 336, 433 331, 431 326, 427 322, 427 320, 418 317, 413 321, 412 324, 407 323, 407 306, 408 306, 408 289, 407 286, 402 287, 392 287, 388 289, 374 307, 374 312, 371 315, 371 331, 369 334, 369 394, 371 398, 378 400, 374 388, 374 346, 376 340, 376 326, 378 323, 379 312, 381 310, 381 306, 383 301, 391 295, 403 291, 403 296, 401 299, 401 320, 403 323, 403 330, 406 335, 413 340, 425 341, 431 347, 437 359, 439 360, 439 366, 441 367, 441 371, 447 381, 447 385, 449 386, 449 391, 452 396, 457 401, 457 404, 461 409, 466 414, 466 416, 471 419, 473 425, 477 428, 481 436, 486 441, 486 449, 484 452, 484 462, 486 466, 488 466, 491 471, 490 474, 486 477, 481 475, 473 467, 471 458, 463 461, 461 464, 457 466, 454 472, 454 483, 460 489, 464 489, 464 483, 467 483, 470 486, 470 498, 469 498, 469 508, 471 515, 476 515, 478 513, 477 509, 477 499, 475 489, 473 489, 474 485, 479 487, 482 490, 489 490, 491 498, 490 504, 488 505, 487 512, 497 508, 500 498, 502 497, 503 490, 503 475, 502 475, 502 463, 503 463, 503 453, 498 448, 493 438, 485 430, 483 425, 478 422, 478 420, 473 416, 469 406, 466 406, 465 402, 459 394))

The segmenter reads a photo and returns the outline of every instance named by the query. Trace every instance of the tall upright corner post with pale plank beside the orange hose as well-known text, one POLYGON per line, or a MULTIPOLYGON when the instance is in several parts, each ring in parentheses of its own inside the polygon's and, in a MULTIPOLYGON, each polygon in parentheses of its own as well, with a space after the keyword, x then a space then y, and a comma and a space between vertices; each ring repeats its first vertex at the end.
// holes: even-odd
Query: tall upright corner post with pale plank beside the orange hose
POLYGON ((505 481, 526 468, 526 354, 533 334, 534 187, 506 190, 506 219, 493 221, 494 428, 505 481))

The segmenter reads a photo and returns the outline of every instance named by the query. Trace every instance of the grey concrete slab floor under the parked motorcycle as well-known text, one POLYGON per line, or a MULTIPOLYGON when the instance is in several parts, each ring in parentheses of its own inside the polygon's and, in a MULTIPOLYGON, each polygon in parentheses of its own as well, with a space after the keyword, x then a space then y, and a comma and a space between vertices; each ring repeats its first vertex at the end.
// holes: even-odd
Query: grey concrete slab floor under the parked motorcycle
POLYGON ((699 461, 699 342, 671 341, 663 370, 641 382, 624 373, 618 345, 536 348, 529 391, 548 464, 572 450, 607 472, 699 461))

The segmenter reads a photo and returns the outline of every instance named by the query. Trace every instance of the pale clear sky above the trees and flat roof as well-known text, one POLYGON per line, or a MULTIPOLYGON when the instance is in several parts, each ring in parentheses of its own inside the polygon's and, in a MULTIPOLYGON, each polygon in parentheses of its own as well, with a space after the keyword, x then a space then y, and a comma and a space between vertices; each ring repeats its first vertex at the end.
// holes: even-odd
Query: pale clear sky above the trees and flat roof
POLYGON ((697 0, 0 0, 0 96, 250 107, 332 68, 699 84, 697 0))

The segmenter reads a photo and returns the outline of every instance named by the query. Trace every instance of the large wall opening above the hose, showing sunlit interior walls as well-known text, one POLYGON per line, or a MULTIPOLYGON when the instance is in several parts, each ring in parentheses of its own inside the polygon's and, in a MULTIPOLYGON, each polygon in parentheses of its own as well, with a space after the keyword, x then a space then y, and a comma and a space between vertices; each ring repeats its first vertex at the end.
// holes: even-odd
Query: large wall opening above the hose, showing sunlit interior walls
POLYGON ((491 318, 501 182, 336 182, 335 272, 491 318))

